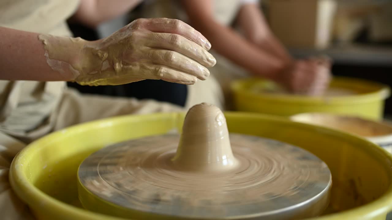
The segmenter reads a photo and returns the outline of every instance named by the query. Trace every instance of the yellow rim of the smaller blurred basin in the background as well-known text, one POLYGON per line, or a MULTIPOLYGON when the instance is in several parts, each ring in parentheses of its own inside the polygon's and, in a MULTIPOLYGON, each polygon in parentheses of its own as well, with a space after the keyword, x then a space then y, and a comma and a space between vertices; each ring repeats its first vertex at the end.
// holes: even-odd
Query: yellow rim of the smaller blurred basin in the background
POLYGON ((348 96, 337 96, 337 97, 312 97, 312 96, 300 96, 300 95, 285 95, 285 94, 263 94, 260 92, 252 91, 249 89, 250 86, 255 83, 266 82, 265 79, 240 79, 234 81, 231 84, 231 89, 234 93, 241 94, 243 96, 262 98, 265 100, 271 100, 273 102, 284 102, 284 103, 298 103, 298 104, 323 104, 326 100, 328 103, 361 103, 380 99, 387 99, 390 96, 390 88, 387 85, 381 83, 375 83, 372 81, 366 81, 363 79, 347 78, 347 77, 335 77, 332 79, 331 87, 350 88, 355 85, 356 88, 366 88, 372 92, 364 94, 348 95, 348 96))

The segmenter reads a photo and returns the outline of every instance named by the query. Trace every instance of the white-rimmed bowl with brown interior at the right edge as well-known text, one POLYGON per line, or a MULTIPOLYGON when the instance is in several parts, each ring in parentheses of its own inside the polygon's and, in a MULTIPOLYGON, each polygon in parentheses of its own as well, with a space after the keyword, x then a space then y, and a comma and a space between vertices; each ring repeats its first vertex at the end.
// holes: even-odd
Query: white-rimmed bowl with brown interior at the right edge
POLYGON ((359 135, 392 153, 392 126, 377 121, 345 115, 304 113, 293 115, 290 120, 324 126, 359 135))

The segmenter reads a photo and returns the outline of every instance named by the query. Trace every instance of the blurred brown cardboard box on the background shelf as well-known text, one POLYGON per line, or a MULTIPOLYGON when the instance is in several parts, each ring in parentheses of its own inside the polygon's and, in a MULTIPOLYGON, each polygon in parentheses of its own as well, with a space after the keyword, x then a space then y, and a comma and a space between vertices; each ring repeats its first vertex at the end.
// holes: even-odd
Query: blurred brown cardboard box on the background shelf
POLYGON ((325 49, 336 6, 335 0, 270 0, 270 27, 288 47, 325 49))

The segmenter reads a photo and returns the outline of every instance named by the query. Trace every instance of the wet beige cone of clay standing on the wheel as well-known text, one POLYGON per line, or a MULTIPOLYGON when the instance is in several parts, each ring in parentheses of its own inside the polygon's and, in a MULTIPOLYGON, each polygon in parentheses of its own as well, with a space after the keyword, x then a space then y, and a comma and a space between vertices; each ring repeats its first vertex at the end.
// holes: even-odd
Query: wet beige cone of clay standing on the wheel
POLYGON ((174 166, 187 171, 226 171, 238 165, 234 158, 221 110, 201 103, 189 109, 181 133, 174 166))

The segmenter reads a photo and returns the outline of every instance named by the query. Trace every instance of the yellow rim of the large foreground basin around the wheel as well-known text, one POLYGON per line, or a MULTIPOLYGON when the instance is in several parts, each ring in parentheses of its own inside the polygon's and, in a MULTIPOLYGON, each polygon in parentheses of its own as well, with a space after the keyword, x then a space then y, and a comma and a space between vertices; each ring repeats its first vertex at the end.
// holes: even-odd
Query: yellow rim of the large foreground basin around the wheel
MULTIPOLYGON (((168 113, 163 113, 163 114, 168 114, 168 113)), ((183 117, 183 113, 180 114, 173 114, 173 118, 176 117, 183 117)), ((97 127, 105 127, 108 126, 107 124, 120 124, 124 119, 126 118, 136 118, 143 120, 143 119, 151 119, 153 117, 159 117, 160 114, 151 114, 151 115, 126 115, 126 116, 119 116, 119 117, 113 117, 109 119, 101 119, 89 123, 83 123, 79 124, 76 126, 72 126, 69 128, 66 128, 65 130, 60 130, 58 132, 51 133, 33 143, 31 143, 29 146, 27 146, 24 150, 20 151, 18 155, 15 157, 11 164, 10 168, 10 182, 11 185, 13 186, 13 189, 16 191, 16 193, 24 200, 27 204, 36 204, 37 202, 40 202, 42 204, 45 204, 45 209, 52 209, 58 211, 59 215, 63 213, 70 213, 73 215, 78 215, 81 218, 85 219, 97 219, 97 220, 107 220, 107 219, 113 219, 113 220, 120 220, 123 218, 116 218, 113 216, 107 216, 99 213, 93 213, 91 211, 81 209, 75 206, 72 206, 70 204, 66 204, 64 202, 61 202, 59 200, 56 200, 53 197, 50 197, 49 195, 45 194, 33 184, 29 182, 27 179, 27 176, 24 174, 22 169, 18 169, 18 164, 23 164, 24 161, 29 160, 29 155, 40 149, 40 146, 44 146, 45 144, 43 143, 50 143, 56 140, 58 137, 62 137, 64 135, 72 135, 73 133, 76 132, 81 132, 83 130, 89 130, 91 128, 97 128, 97 127)), ((254 117, 254 118, 259 118, 259 119, 265 119, 268 121, 276 121, 280 123, 285 123, 285 124, 291 124, 295 125, 297 128, 304 128, 304 129, 310 129, 310 128, 317 128, 318 131, 325 131, 327 133, 333 133, 336 137, 341 137, 345 139, 349 139, 352 142, 363 142, 366 141, 365 139, 362 139, 358 136, 355 135, 350 135, 349 133, 345 132, 339 132, 333 129, 329 128, 323 128, 319 126, 314 126, 310 124, 303 124, 303 123, 297 123, 293 121, 289 121, 287 119, 283 119, 281 117, 275 117, 275 116, 266 116, 266 115, 261 115, 261 114, 256 114, 256 113, 243 113, 243 112, 226 112, 225 115, 229 116, 236 116, 236 117, 254 117)), ((175 127, 176 122, 173 123, 173 127, 175 127)), ((371 146, 375 148, 375 150, 368 151, 369 153, 372 152, 375 157, 379 157, 382 155, 384 159, 387 159, 390 163, 392 163, 392 155, 390 155, 387 151, 383 150, 376 144, 373 144, 369 141, 366 141, 368 144, 367 145, 359 145, 361 148, 363 146, 371 146)), ((392 167, 391 171, 392 173, 392 167)), ((390 174, 392 175, 392 174, 390 174)), ((76 178, 76 173, 75 173, 75 178, 76 178)), ((372 218, 374 215, 379 215, 380 213, 387 213, 388 211, 392 210, 392 184, 389 186, 388 190, 379 198, 377 198, 375 201, 370 202, 368 204, 365 204, 360 207, 356 207, 353 209, 349 209, 347 211, 341 211, 338 213, 330 214, 330 215, 325 215, 321 217, 316 217, 316 218, 309 218, 311 219, 317 219, 317 220, 347 220, 347 219, 369 219, 372 218)))

